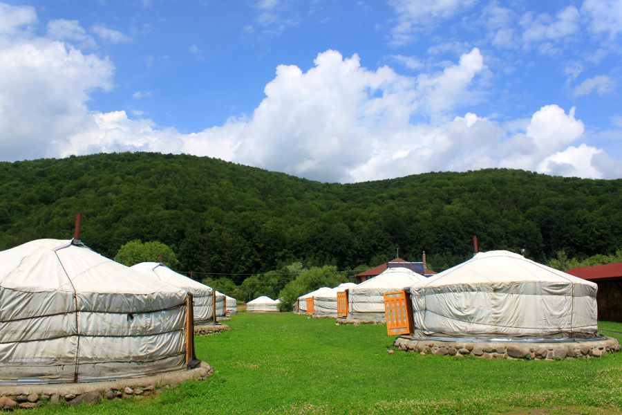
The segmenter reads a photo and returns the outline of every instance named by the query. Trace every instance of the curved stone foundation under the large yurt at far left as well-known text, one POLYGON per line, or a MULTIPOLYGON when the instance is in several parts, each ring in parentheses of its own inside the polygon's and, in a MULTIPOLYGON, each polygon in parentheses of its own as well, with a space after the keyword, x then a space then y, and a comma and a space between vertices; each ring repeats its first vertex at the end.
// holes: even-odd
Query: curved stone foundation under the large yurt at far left
POLYGON ((104 399, 150 396, 187 379, 203 380, 214 372, 214 368, 205 362, 194 360, 192 363, 193 369, 185 371, 108 382, 0 385, 0 409, 35 408, 48 401, 67 405, 79 405, 82 402, 95 405, 104 399))

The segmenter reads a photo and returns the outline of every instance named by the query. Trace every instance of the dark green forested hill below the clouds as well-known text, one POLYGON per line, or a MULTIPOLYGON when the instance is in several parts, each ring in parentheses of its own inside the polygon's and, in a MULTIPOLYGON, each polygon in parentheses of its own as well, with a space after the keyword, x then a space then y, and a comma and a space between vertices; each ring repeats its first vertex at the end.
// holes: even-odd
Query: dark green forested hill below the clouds
POLYGON ((258 273, 294 260, 341 270, 399 256, 435 268, 480 250, 539 261, 622 247, 622 180, 521 170, 428 173, 341 185, 219 159, 96 154, 0 163, 0 250, 81 239, 115 257, 133 239, 171 246, 179 270, 258 273))

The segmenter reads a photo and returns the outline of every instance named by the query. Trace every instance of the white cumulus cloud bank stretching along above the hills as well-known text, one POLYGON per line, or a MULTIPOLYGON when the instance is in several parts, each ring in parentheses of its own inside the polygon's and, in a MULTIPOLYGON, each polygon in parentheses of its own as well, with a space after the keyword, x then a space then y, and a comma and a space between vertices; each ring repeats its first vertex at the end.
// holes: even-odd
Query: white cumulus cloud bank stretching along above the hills
MULTIPOLYGON (((183 152, 340 182, 481 167, 622 174, 619 160, 585 143, 585 126, 574 108, 566 113, 550 104, 526 120, 504 122, 463 109, 484 99, 478 79, 487 68, 478 48, 455 55, 455 63, 442 71, 413 64, 411 76, 389 66, 364 68, 358 55, 344 58, 327 50, 306 72, 278 66, 248 118, 180 133, 142 118, 139 110, 132 111, 138 117, 132 120, 125 111, 88 109, 92 91, 112 88, 114 66, 67 43, 87 36, 76 21, 52 21, 49 36, 37 37, 29 28, 37 24, 31 8, 0 7, 0 13, 22 16, 0 35, 2 160, 183 152), (50 39, 52 34, 67 42, 50 39)), ((6 15, 0 22, 8 21, 6 15)), ((603 84, 585 88, 599 91, 603 84)), ((146 95, 138 91, 134 97, 146 95)))

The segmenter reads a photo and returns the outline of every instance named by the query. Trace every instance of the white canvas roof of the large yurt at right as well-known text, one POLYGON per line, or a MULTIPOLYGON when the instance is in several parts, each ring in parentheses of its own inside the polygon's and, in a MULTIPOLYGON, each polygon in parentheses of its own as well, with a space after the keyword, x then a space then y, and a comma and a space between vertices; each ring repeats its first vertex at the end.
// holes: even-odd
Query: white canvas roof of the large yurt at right
MULTIPOLYGON (((503 287, 504 292, 529 294, 525 292, 527 286, 559 283, 583 286, 587 292, 593 291, 593 295, 596 295, 596 284, 593 282, 538 264, 506 250, 479 252, 469 261, 428 278, 423 282, 423 287, 453 286, 470 291, 477 286, 495 284, 499 288, 503 287)), ((575 291, 576 294, 578 293, 575 291)))

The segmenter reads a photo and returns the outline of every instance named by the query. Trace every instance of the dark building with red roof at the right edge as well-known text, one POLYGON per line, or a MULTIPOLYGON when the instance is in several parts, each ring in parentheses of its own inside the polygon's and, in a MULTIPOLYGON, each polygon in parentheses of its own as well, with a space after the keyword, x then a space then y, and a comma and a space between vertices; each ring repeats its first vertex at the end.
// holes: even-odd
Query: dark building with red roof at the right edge
POLYGON ((596 293, 599 320, 622 321, 622 264, 581 266, 567 273, 599 286, 596 293))

